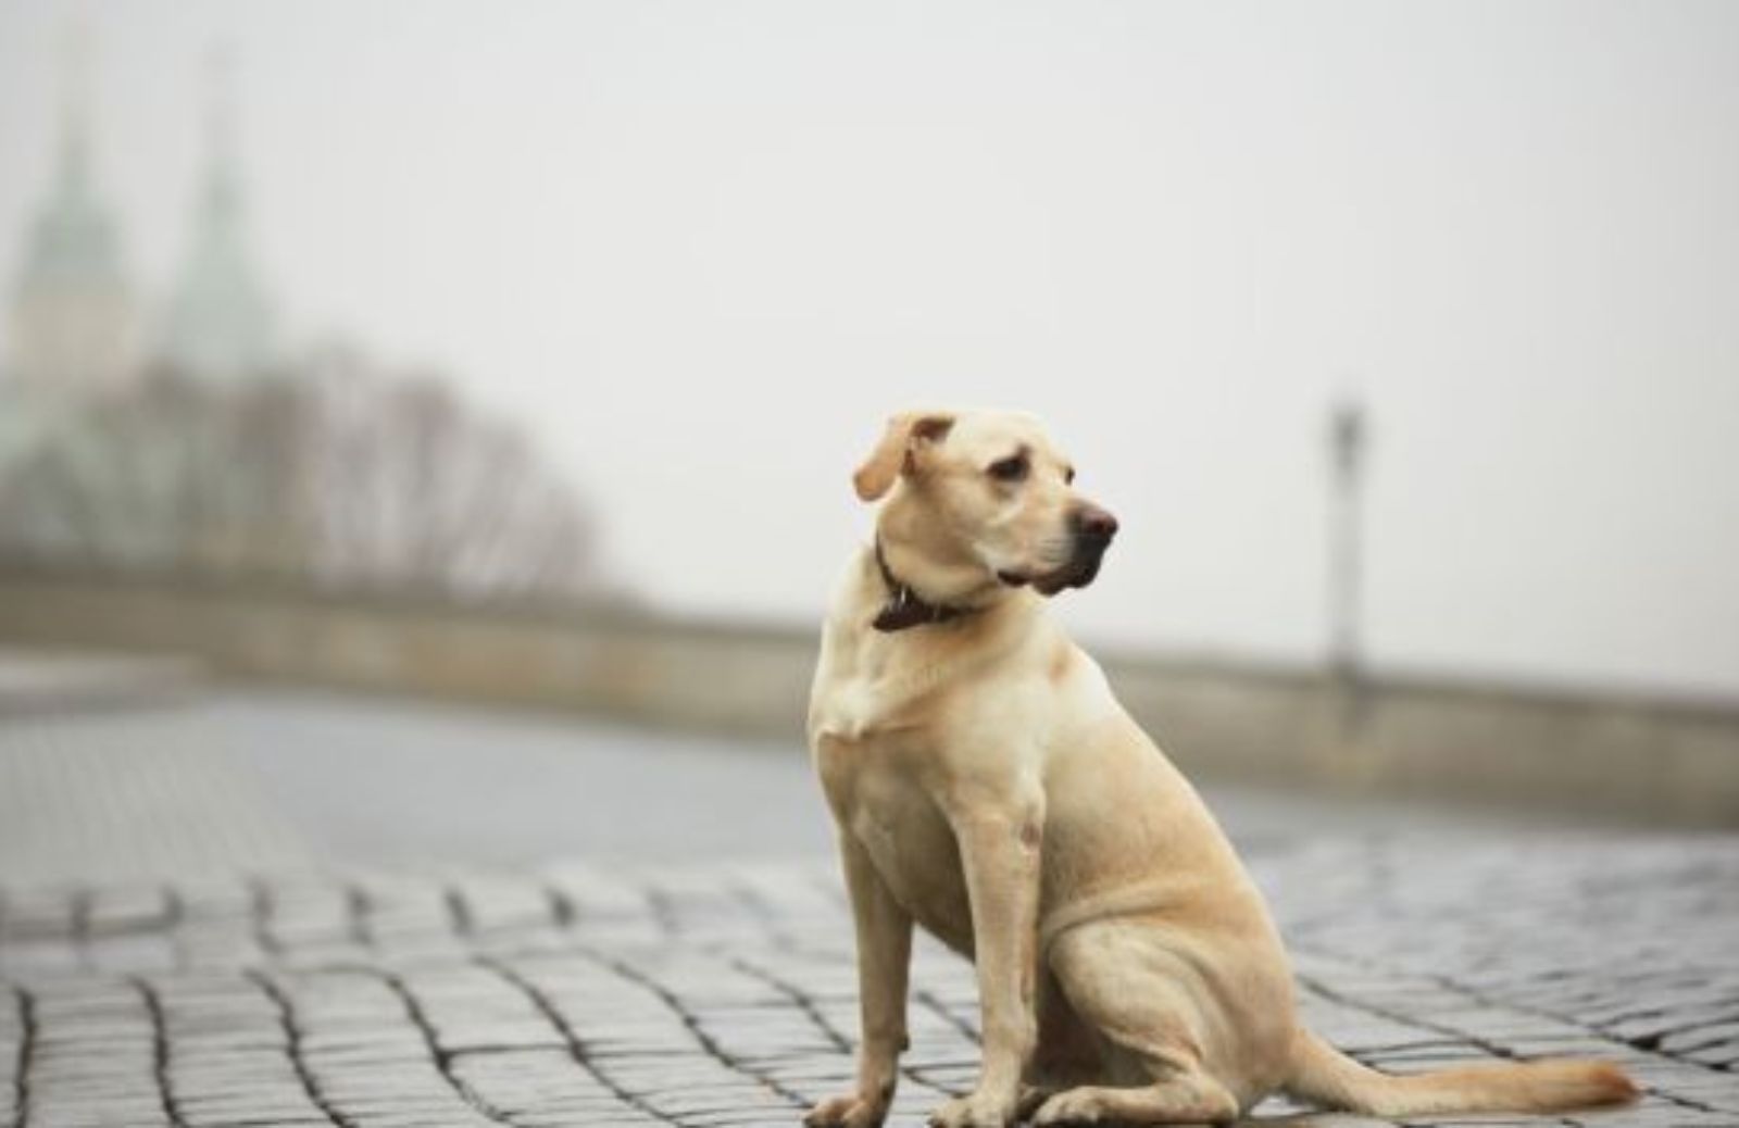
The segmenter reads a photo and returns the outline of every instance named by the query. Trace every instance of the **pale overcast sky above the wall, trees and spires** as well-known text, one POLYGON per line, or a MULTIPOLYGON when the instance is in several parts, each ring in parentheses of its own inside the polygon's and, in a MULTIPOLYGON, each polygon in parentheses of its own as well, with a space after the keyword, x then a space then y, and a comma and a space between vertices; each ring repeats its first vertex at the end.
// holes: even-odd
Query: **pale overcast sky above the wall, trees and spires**
MULTIPOLYGON (((9 271, 78 7, 0 0, 9 271)), ((1736 3, 82 7, 141 289, 221 40, 292 341, 523 419, 656 600, 816 619, 882 417, 1007 403, 1123 518, 1082 634, 1311 660, 1356 389, 1381 666, 1739 695, 1736 3)))

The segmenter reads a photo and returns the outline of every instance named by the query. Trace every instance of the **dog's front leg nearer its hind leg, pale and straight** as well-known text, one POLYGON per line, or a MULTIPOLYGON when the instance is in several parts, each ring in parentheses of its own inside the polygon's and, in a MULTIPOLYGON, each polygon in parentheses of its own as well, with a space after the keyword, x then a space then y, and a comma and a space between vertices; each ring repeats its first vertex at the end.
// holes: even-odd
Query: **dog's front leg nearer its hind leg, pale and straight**
POLYGON ((949 813, 972 899, 974 961, 984 1060, 979 1083, 930 1116, 937 1128, 1014 1121, 1021 1074, 1038 1025, 1033 982, 1038 959, 1038 866, 1045 826, 1043 793, 967 801, 949 813))

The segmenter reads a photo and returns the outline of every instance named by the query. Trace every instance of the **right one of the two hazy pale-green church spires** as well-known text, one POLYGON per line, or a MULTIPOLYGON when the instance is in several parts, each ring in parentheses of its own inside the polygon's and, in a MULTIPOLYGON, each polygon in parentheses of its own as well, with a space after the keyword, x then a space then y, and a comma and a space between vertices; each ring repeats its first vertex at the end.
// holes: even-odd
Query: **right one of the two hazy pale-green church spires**
POLYGON ((181 375, 228 384, 261 375, 273 360, 273 316, 245 240, 237 162, 231 64, 210 64, 205 182, 193 205, 186 255, 160 344, 181 375))

